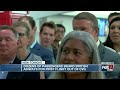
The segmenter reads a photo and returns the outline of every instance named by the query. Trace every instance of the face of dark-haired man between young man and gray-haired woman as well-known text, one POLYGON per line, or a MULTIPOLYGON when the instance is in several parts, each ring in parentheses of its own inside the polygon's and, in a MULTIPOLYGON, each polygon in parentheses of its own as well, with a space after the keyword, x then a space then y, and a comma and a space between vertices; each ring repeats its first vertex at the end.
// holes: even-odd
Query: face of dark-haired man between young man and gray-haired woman
POLYGON ((55 33, 55 40, 61 41, 64 37, 64 28, 57 27, 56 33, 55 33))

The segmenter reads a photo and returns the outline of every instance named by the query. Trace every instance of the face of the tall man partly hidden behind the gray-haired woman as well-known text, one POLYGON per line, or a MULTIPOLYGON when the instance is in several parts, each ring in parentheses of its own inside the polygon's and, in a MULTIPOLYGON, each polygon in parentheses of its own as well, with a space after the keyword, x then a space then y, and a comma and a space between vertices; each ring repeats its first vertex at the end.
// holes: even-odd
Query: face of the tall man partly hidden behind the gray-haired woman
POLYGON ((73 29, 88 32, 96 41, 98 40, 98 30, 93 28, 91 21, 85 19, 73 20, 73 29))

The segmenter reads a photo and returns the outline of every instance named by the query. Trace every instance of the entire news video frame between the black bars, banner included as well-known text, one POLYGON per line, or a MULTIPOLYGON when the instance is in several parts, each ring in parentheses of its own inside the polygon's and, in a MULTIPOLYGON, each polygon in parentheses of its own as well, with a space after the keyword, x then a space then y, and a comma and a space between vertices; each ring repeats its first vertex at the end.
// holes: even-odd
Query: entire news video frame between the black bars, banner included
POLYGON ((0 79, 120 79, 120 11, 0 11, 0 79))

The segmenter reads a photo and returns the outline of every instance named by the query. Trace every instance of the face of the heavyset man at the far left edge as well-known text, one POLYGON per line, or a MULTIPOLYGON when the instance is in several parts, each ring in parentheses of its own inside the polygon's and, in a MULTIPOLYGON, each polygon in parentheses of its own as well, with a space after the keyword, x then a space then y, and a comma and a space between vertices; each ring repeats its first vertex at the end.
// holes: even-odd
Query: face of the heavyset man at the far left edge
POLYGON ((9 56, 16 53, 17 38, 10 30, 0 31, 0 56, 9 56))

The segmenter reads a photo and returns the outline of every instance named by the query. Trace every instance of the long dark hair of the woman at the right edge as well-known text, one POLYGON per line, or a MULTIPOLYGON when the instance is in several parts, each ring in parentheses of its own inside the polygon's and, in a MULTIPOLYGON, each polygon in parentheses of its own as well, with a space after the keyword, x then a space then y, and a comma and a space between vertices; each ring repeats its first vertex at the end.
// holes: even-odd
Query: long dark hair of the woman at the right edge
MULTIPOLYGON (((111 24, 115 21, 120 21, 120 17, 116 17, 116 18, 112 19, 112 21, 109 24, 109 29, 110 29, 111 24)), ((109 32, 110 32, 110 30, 109 30, 109 32)), ((111 41, 109 34, 108 34, 106 41, 103 44, 107 47, 114 49, 113 42, 111 41)))

